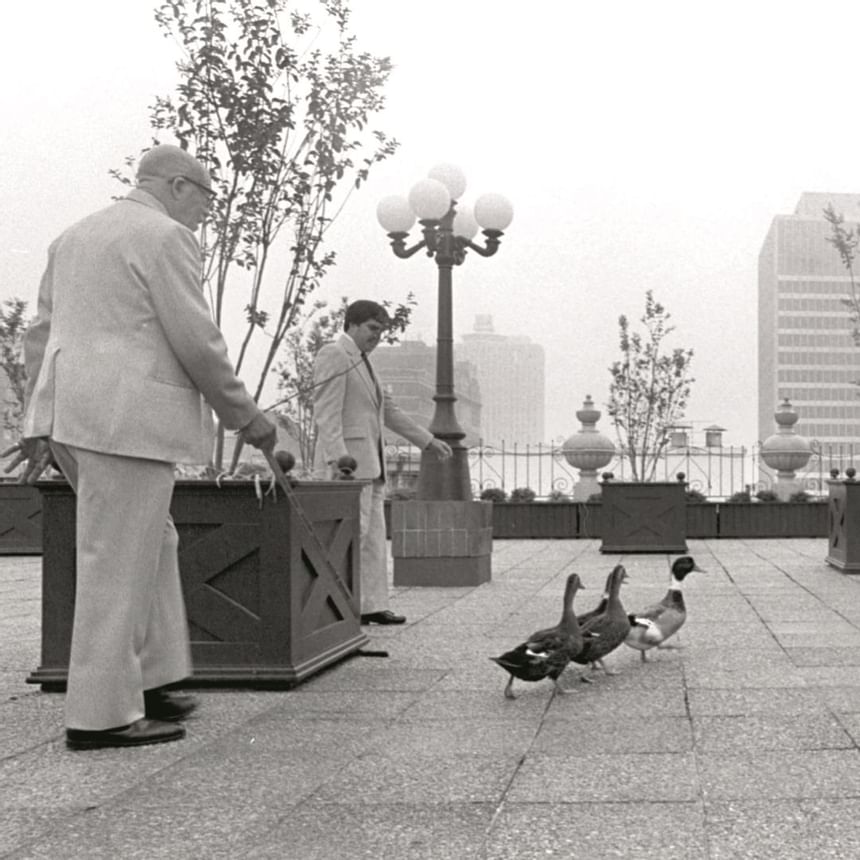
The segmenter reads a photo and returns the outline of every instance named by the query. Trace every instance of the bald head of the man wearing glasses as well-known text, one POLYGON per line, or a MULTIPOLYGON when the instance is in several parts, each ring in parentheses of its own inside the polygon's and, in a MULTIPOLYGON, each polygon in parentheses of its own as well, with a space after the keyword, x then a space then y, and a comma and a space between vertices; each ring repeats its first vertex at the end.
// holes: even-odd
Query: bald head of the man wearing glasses
POLYGON ((209 171, 193 155, 160 143, 140 159, 137 187, 155 197, 167 214, 196 230, 209 209, 214 192, 209 171))

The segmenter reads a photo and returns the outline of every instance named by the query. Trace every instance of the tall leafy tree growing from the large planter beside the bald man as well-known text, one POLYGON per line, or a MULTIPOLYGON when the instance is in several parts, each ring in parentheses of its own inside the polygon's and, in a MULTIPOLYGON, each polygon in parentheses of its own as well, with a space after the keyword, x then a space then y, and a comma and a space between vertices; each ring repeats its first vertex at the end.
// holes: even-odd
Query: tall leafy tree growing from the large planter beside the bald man
MULTIPOLYGON (((204 282, 219 326, 241 314, 233 358, 244 378, 257 360, 249 388, 258 401, 284 339, 335 263, 326 231, 372 165, 397 147, 367 130, 391 63, 357 50, 346 0, 320 0, 316 15, 287 7, 225 0, 204 13, 198 0, 166 0, 155 16, 183 53, 175 95, 151 110, 155 142, 169 134, 212 174, 218 195, 202 234, 204 282), (252 349, 258 341, 262 357, 252 349)), ((223 440, 220 428, 219 471, 223 440)))

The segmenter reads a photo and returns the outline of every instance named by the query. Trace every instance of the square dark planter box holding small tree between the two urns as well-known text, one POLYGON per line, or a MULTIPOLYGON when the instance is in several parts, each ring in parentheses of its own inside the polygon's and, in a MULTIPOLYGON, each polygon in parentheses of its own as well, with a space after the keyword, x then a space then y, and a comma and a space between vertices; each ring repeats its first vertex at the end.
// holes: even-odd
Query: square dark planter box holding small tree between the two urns
POLYGON ((687 499, 675 482, 606 481, 601 552, 686 552, 687 499))

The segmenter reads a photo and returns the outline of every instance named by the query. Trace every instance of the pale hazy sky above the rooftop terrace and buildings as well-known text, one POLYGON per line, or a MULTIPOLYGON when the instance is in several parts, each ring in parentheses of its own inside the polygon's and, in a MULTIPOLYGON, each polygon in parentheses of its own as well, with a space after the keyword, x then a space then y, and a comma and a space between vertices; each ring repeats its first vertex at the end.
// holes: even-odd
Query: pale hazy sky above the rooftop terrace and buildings
MULTIPOLYGON (((9 4, 11 5, 11 4, 9 4)), ((434 164, 465 199, 499 191, 495 257, 454 273, 454 328, 491 313, 543 344, 547 437, 603 409, 619 314, 647 289, 695 350, 688 419, 756 440, 756 279, 771 219, 803 191, 860 191, 857 38, 848 2, 353 0, 359 46, 395 63, 374 126, 401 143, 330 232, 321 297, 402 300, 435 340, 436 267, 396 259, 375 208, 434 164)), ((0 298, 35 300, 50 241, 106 204, 111 167, 150 137, 176 81, 151 0, 4 8, 0 298)), ((774 404, 776 407, 777 404, 774 404)), ((610 432, 604 416, 598 425, 610 432)))

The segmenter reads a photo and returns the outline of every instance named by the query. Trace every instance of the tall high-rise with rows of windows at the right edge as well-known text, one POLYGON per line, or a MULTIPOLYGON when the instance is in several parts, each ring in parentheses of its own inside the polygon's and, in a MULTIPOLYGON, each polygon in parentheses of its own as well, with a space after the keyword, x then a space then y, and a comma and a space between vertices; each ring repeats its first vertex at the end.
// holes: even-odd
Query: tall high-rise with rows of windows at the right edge
POLYGON ((824 445, 860 441, 860 346, 844 299, 847 270, 833 245, 828 206, 860 221, 860 194, 804 193, 793 215, 773 219, 759 255, 758 432, 789 398, 795 430, 824 445))

